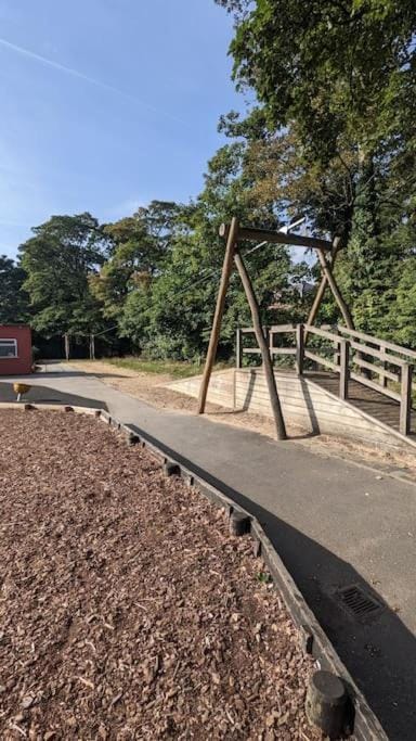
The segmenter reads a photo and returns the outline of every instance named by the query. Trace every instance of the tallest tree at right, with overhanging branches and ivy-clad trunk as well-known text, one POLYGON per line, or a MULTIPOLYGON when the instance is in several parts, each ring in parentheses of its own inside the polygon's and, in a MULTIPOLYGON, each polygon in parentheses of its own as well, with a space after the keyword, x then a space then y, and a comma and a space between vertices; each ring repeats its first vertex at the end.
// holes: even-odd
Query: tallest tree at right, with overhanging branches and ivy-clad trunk
POLYGON ((415 193, 415 3, 218 1, 235 13, 234 79, 256 91, 269 130, 259 193, 274 187, 314 229, 342 237, 338 278, 355 321, 389 332, 415 193))

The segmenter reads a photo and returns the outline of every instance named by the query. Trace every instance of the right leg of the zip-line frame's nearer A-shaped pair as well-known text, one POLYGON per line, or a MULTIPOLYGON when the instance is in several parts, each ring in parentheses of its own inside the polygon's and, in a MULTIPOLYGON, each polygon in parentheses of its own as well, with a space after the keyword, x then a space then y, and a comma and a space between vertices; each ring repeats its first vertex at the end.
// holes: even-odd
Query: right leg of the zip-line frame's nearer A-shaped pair
POLYGON ((259 305, 256 298, 256 294, 250 281, 250 277, 246 270, 244 260, 238 252, 234 254, 234 260, 242 279, 244 290, 246 292, 247 301, 251 311, 252 325, 256 332, 257 343, 261 350, 261 358, 263 361, 265 381, 269 388, 270 404, 272 407, 272 412, 274 417, 274 423, 276 425, 276 435, 278 440, 287 439, 285 421, 282 414, 281 401, 277 394, 276 379, 273 372, 272 359, 270 357, 270 349, 266 340, 263 334, 263 329, 260 321, 259 305))

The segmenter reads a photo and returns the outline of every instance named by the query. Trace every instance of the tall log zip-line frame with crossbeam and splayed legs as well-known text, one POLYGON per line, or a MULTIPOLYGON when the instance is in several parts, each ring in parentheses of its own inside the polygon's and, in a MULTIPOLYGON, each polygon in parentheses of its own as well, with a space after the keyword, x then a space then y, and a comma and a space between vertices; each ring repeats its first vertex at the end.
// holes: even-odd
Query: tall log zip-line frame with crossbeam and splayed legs
POLYGON ((327 240, 316 239, 313 237, 299 237, 298 234, 285 234, 278 231, 270 231, 266 229, 252 229, 243 228, 238 225, 236 217, 233 217, 230 225, 222 223, 220 227, 220 237, 226 239, 224 261, 222 265, 222 274, 220 281, 220 288, 217 296, 216 311, 213 315, 211 335, 208 345, 207 357, 204 367, 203 380, 199 388, 198 398, 198 414, 205 412, 207 394, 209 381, 212 373, 212 367, 216 360, 218 342, 220 338, 222 317, 224 314, 225 297, 230 284, 230 277, 233 270, 233 265, 235 264, 239 277, 242 279, 243 288, 247 297, 248 305, 251 311, 252 325, 256 333, 256 338, 261 352, 261 358, 264 369, 264 375, 268 384, 270 403, 272 406, 273 418, 276 427, 276 436, 280 440, 287 439, 286 425, 283 419, 281 401, 278 398, 276 379, 273 372, 273 363, 270 354, 270 348, 264 337, 263 328, 260 320, 260 308, 259 303, 256 298, 256 294, 252 288, 250 277, 247 272, 246 265, 238 250, 238 242, 264 242, 274 244, 288 244, 299 247, 304 247, 307 250, 315 250, 321 265, 321 283, 318 285, 316 296, 314 298, 313 305, 311 307, 308 324, 313 324, 317 311, 320 309, 322 299, 324 297, 326 288, 329 286, 335 301, 337 302, 340 311, 342 314, 343 320, 348 329, 354 329, 351 312, 342 298, 339 286, 334 277, 333 268, 336 260, 337 254, 340 250, 340 238, 336 237, 334 242, 327 240), (329 255, 329 259, 327 257, 329 255))

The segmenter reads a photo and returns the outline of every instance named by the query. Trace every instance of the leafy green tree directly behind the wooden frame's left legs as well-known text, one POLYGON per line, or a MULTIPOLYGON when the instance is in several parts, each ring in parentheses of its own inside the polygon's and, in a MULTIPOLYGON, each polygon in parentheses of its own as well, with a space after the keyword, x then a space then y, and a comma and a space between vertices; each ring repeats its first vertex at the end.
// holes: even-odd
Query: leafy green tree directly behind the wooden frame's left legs
MULTIPOLYGON (((208 344, 224 241, 219 226, 236 215, 245 225, 280 225, 274 202, 258 205, 251 197, 252 182, 245 170, 247 144, 233 142, 211 158, 205 188, 195 202, 177 214, 170 232, 170 250, 162 270, 146 286, 132 291, 126 302, 121 327, 147 353, 158 357, 191 359, 203 355, 208 344)), ((294 269, 287 251, 278 245, 250 252, 243 245, 247 265, 260 299, 264 321, 286 318, 269 307, 276 294, 299 303, 291 281, 294 269)), ((306 266, 302 270, 308 270, 306 266)), ((301 272, 302 272, 301 270, 301 272)), ((234 349, 235 328, 250 321, 240 281, 234 274, 227 295, 220 353, 234 349)))

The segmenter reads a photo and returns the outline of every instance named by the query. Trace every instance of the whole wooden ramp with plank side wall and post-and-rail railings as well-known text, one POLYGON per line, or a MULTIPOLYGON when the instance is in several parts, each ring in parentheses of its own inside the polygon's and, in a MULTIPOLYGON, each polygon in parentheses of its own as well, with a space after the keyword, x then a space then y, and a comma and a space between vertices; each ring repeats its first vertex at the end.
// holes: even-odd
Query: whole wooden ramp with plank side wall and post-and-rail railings
MULTIPOLYGON (((344 327, 275 324, 264 328, 284 419, 316 433, 387 448, 416 447, 416 352, 344 327), (330 329, 330 331, 329 331, 330 329)), ((208 400, 272 417, 260 348, 239 328, 236 368, 213 373, 208 400), (244 362, 248 356, 248 361, 244 362)), ((198 396, 202 376, 169 384, 198 396)))

